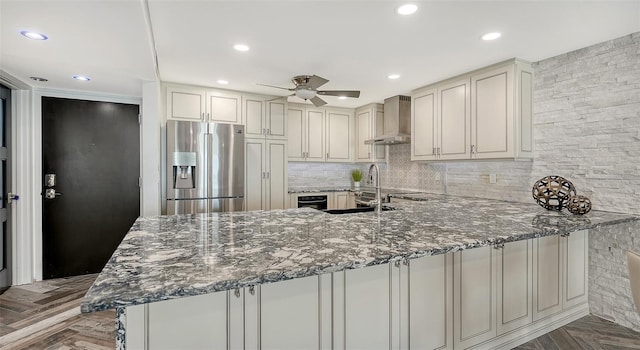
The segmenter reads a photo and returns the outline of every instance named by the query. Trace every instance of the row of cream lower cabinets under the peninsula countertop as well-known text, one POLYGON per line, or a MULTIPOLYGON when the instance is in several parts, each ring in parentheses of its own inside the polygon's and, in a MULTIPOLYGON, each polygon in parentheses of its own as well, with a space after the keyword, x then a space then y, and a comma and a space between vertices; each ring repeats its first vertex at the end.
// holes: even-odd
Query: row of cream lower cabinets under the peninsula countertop
POLYGON ((514 347, 588 314, 587 249, 578 231, 128 307, 126 346, 514 347))

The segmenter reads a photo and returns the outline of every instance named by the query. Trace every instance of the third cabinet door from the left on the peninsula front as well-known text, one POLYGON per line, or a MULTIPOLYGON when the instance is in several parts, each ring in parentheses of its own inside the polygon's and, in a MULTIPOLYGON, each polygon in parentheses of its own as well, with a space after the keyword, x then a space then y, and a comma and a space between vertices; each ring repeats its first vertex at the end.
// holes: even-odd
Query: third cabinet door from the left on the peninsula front
POLYGON ((344 272, 344 349, 389 349, 389 281, 389 264, 344 272))

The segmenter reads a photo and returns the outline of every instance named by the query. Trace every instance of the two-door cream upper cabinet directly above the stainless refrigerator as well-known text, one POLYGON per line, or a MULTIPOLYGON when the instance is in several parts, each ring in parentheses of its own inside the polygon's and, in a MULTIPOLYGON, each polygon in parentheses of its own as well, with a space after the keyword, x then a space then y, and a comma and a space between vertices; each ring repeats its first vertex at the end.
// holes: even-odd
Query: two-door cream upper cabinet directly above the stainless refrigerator
POLYGON ((242 124, 242 96, 233 92, 166 84, 167 119, 242 124))

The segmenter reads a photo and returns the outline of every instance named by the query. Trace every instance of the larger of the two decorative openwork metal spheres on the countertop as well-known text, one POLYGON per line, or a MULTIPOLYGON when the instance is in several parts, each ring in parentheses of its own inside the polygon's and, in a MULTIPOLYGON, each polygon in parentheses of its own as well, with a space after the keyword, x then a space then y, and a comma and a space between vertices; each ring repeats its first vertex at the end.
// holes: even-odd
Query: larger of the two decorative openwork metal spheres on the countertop
POLYGON ((545 176, 536 181, 531 189, 533 199, 548 210, 562 210, 571 196, 576 195, 576 188, 571 181, 562 176, 545 176))

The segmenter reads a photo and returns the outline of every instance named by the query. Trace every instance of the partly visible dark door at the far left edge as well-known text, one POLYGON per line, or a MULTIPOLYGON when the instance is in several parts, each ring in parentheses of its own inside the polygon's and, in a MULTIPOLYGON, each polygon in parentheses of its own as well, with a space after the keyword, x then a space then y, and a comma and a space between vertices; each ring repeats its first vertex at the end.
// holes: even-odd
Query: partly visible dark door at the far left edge
POLYGON ((11 90, 0 85, 0 293, 11 286, 11 90))

